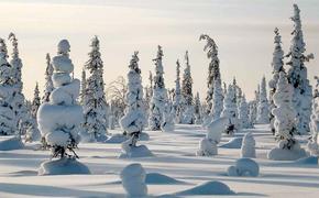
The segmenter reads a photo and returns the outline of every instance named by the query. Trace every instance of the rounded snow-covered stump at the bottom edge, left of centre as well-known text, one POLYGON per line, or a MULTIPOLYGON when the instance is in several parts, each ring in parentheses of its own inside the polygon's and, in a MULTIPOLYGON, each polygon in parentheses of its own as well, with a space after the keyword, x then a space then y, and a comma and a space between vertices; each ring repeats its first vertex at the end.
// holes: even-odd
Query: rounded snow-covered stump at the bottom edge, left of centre
POLYGON ((147 186, 145 184, 146 172, 141 164, 128 165, 122 169, 120 177, 129 197, 147 196, 147 186))

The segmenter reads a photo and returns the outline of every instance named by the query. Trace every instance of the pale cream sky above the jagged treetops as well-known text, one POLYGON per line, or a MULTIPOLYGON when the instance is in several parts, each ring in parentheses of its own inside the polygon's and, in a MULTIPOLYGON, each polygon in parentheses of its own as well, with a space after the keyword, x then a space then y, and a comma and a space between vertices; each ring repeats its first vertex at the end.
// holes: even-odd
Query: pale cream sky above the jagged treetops
POLYGON ((184 66, 188 50, 194 89, 204 98, 209 62, 202 52, 205 43, 198 41, 201 33, 219 46, 222 80, 230 82, 237 76, 251 99, 262 76, 271 77, 275 26, 280 30, 285 53, 288 51, 294 2, 301 10, 307 52, 316 56, 307 64, 314 84, 314 75, 319 75, 318 0, 0 0, 0 36, 7 38, 14 32, 19 38, 29 99, 35 81, 43 89, 45 54, 54 56, 61 38, 69 40, 75 75, 80 78, 94 35, 101 42, 107 84, 127 75, 136 50, 146 84, 161 44, 167 87, 174 86, 176 59, 184 66))

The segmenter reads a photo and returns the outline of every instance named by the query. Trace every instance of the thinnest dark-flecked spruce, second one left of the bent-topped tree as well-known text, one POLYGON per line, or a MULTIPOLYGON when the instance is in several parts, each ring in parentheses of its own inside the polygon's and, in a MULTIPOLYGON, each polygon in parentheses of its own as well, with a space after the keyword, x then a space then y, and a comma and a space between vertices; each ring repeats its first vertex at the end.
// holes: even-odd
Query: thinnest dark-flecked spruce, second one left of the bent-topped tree
POLYGON ((175 111, 175 121, 180 123, 182 121, 182 91, 180 91, 180 64, 179 61, 176 61, 176 79, 175 79, 175 96, 174 96, 174 111, 175 111))

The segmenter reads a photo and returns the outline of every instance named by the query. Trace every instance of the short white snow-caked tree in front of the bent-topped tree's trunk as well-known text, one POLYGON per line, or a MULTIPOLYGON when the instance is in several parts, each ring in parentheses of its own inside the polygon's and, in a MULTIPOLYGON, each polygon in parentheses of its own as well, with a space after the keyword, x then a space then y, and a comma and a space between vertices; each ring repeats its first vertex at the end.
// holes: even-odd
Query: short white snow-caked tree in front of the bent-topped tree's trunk
POLYGON ((210 116, 212 120, 219 119, 223 109, 223 90, 221 88, 220 80, 215 80, 213 85, 213 95, 212 95, 212 107, 210 116))

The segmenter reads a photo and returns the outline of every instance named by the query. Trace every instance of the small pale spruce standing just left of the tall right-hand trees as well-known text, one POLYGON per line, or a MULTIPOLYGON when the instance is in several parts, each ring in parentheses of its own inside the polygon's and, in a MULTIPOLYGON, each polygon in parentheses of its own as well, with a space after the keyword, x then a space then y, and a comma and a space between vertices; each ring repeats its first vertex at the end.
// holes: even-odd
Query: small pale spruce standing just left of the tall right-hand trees
POLYGON ((270 123, 270 103, 266 91, 266 78, 263 77, 261 84, 260 101, 257 103, 257 118, 256 122, 260 124, 270 123))

